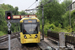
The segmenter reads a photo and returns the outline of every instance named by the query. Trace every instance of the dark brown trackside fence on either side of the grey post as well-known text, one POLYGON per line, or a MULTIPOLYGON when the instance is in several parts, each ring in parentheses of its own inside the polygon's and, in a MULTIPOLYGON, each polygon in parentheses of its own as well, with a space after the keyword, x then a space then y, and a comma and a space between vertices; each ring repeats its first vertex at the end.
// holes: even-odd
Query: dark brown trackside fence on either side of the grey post
MULTIPOLYGON (((48 37, 50 37, 50 38, 52 38, 52 39, 54 39, 54 40, 57 40, 57 41, 59 41, 59 37, 60 37, 60 35, 59 35, 60 33, 58 33, 58 32, 53 32, 53 31, 50 31, 50 30, 48 30, 47 31, 47 36, 48 37)), ((69 34, 69 33, 67 33, 67 34, 69 34)), ((73 34, 74 35, 74 34, 73 34)), ((69 44, 72 44, 72 45, 74 45, 74 47, 75 47, 75 37, 74 36, 72 36, 71 34, 70 35, 64 35, 64 38, 65 38, 65 45, 67 44, 67 43, 69 43, 69 44)), ((61 39, 62 40, 62 39, 61 39)))

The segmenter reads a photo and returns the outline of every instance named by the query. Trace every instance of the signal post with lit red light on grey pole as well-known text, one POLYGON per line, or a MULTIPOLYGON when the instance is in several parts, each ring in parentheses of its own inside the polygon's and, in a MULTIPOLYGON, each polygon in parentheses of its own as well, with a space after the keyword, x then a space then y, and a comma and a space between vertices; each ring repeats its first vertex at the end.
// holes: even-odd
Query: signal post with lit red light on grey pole
POLYGON ((6 18, 6 20, 7 20, 7 22, 8 22, 8 24, 7 24, 7 26, 8 26, 8 45, 9 45, 9 50, 11 50, 11 41, 10 41, 10 39, 11 39, 11 30, 10 30, 10 27, 11 27, 11 23, 9 22, 9 20, 11 20, 12 19, 12 12, 11 11, 6 11, 5 12, 5 18, 6 18))

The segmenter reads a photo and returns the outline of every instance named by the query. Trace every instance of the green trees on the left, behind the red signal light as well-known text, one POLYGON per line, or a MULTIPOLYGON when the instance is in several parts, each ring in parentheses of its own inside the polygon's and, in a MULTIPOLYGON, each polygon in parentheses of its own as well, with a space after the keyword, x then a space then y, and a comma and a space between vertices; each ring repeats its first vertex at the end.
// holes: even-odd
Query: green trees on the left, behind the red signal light
MULTIPOLYGON (((7 34, 7 22, 5 20, 5 11, 12 11, 13 15, 25 15, 26 13, 24 11, 19 12, 18 11, 18 7, 13 7, 9 4, 0 4, 0 36, 7 34)), ((12 23, 11 26, 11 31, 12 32, 17 32, 20 31, 20 29, 18 30, 18 28, 20 27, 20 25, 16 25, 17 23, 12 23)))

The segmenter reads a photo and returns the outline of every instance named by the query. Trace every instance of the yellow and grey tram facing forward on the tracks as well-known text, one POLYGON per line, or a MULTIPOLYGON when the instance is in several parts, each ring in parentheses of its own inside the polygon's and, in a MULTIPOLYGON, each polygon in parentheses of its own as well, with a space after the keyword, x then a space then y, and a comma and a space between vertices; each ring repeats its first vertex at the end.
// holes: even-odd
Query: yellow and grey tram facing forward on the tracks
POLYGON ((25 17, 20 20, 20 41, 21 44, 40 42, 40 24, 36 17, 25 17))

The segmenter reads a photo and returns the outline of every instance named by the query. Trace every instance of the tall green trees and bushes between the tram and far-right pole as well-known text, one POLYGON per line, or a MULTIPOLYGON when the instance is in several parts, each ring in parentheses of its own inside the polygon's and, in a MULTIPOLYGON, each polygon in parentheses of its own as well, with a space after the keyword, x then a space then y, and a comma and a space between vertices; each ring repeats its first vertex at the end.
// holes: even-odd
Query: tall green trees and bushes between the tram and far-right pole
MULTIPOLYGON (((41 3, 46 3, 47 1, 49 0, 42 0, 40 2, 40 5, 41 3)), ((44 5, 45 34, 47 34, 48 29, 51 29, 52 31, 56 32, 66 33, 72 32, 72 30, 74 29, 69 26, 69 11, 66 12, 66 8, 72 3, 72 0, 64 0, 61 4, 59 4, 58 1, 59 0, 53 0, 52 2, 44 5)), ((41 8, 39 7, 39 9, 41 8)), ((42 10, 38 10, 36 14, 39 16, 38 18, 41 21, 40 29, 42 31, 42 10)), ((73 24, 73 26, 75 25, 73 24)))

